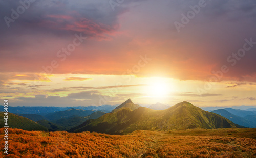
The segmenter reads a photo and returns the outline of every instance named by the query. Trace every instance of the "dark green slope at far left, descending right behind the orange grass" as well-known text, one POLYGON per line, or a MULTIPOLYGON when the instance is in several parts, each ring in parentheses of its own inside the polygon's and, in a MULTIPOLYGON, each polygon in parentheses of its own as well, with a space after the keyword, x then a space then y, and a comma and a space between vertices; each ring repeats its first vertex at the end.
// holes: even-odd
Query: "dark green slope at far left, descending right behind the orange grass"
MULTIPOLYGON (((0 113, 0 126, 4 127, 4 112, 0 113)), ((8 113, 8 126, 9 128, 18 128, 23 130, 44 130, 48 131, 48 129, 40 124, 25 118, 23 116, 18 116, 12 113, 8 113)))

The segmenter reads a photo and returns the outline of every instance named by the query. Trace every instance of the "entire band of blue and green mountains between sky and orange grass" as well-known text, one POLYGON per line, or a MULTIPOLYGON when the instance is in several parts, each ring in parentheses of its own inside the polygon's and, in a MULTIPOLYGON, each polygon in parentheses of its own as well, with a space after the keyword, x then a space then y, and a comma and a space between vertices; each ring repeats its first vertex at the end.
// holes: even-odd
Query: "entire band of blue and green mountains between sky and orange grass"
MULTIPOLYGON (((242 107, 246 109, 246 106, 242 107)), ((256 111, 252 106, 247 107, 247 110, 224 108, 207 112, 186 101, 172 107, 157 102, 146 108, 128 99, 119 106, 9 108, 18 112, 17 115, 9 113, 10 127, 24 130, 88 130, 106 134, 128 134, 137 129, 256 127, 256 111)), ((0 117, 2 115, 4 114, 0 113, 0 117)), ((2 120, 0 125, 3 123, 2 120)))

